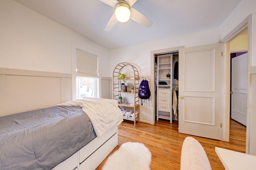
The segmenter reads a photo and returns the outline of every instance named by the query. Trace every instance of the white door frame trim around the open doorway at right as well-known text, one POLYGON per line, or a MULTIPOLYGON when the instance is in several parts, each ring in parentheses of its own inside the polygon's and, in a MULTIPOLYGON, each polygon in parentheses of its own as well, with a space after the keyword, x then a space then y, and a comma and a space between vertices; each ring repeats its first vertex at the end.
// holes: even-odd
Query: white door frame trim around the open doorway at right
MULTIPOLYGON (((224 112, 230 113, 230 42, 234 40, 236 37, 244 33, 244 31, 248 31, 248 60, 247 60, 247 66, 248 70, 251 66, 252 61, 252 14, 250 14, 248 17, 246 17, 242 22, 240 22, 230 33, 228 33, 225 37, 221 39, 220 42, 224 43, 224 101, 226 101, 226 104, 224 104, 224 112), (228 80, 228 81, 225 81, 228 80)), ((247 71, 248 71, 247 70, 247 71)), ((250 144, 251 142, 251 105, 252 105, 252 98, 250 98, 251 91, 252 91, 252 81, 250 79, 250 70, 247 74, 247 121, 246 121, 246 154, 250 154, 250 144), (249 107, 248 107, 249 106, 249 107)), ((229 138, 230 137, 230 114, 224 114, 223 121, 225 123, 225 126, 223 127, 223 137, 229 138)))

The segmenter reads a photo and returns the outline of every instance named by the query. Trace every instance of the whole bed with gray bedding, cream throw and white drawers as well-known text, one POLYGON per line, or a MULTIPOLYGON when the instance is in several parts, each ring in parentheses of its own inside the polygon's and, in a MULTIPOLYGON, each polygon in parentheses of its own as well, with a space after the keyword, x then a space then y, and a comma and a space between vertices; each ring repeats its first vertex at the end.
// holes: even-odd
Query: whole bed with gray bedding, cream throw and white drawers
POLYGON ((95 169, 117 145, 114 102, 72 100, 0 117, 0 169, 95 169))

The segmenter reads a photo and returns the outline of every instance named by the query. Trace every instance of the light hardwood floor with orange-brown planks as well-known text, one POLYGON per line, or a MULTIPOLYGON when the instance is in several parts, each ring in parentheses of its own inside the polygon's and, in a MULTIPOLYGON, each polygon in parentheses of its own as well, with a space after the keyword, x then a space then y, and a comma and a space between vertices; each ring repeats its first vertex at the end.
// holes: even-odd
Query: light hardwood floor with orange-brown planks
MULTIPOLYGON (((171 124, 160 120, 156 121, 155 125, 139 122, 135 128, 133 122, 124 121, 118 127, 118 146, 110 154, 118 150, 123 143, 140 142, 152 153, 151 170, 179 170, 182 143, 187 136, 189 135, 178 133, 178 121, 171 124)), ((225 169, 215 152, 215 147, 245 153, 246 127, 232 119, 230 119, 230 142, 193 137, 206 151, 212 170, 225 169)), ((96 170, 100 170, 106 160, 107 158, 96 170)))

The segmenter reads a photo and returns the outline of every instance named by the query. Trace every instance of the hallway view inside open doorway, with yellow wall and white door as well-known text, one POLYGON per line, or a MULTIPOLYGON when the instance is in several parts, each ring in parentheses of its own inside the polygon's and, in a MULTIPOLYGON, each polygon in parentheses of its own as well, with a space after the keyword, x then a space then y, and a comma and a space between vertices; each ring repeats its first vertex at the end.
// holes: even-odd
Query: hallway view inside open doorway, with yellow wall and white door
MULTIPOLYGON (((246 134, 247 121, 247 68, 248 68, 247 29, 230 42, 230 127, 236 127, 246 134)), ((246 135, 235 137, 230 131, 230 139, 246 149, 246 135)))

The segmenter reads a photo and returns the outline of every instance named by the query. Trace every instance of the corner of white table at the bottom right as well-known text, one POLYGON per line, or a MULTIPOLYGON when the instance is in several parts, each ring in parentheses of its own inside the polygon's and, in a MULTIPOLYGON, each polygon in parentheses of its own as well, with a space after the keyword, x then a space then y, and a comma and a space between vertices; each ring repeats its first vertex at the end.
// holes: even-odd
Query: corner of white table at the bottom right
POLYGON ((256 156, 215 147, 226 170, 256 170, 256 156))

